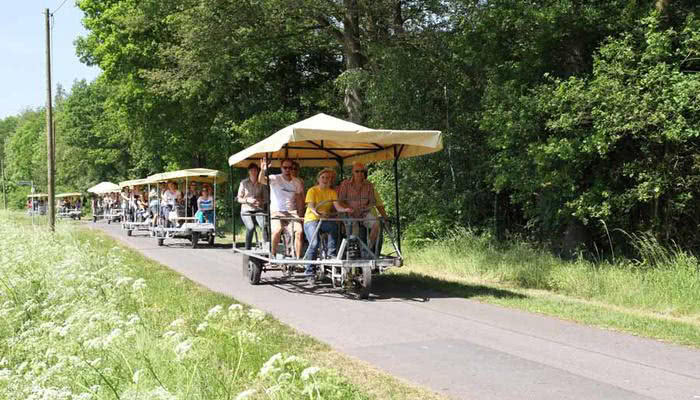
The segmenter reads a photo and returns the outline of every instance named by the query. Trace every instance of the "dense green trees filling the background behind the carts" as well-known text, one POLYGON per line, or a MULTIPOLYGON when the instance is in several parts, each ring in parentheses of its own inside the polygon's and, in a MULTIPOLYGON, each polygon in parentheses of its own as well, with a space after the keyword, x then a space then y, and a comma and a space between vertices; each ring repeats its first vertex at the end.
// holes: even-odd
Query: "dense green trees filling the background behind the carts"
MULTIPOLYGON (((443 131, 442 153, 401 164, 414 239, 470 226, 564 249, 621 231, 700 246, 695 1, 78 4, 78 54, 103 73, 58 102, 61 188, 226 169, 326 112, 443 131)), ((43 110, 0 121, 10 181, 45 181, 44 124, 43 110)), ((372 179, 393 210, 390 166, 372 179)))

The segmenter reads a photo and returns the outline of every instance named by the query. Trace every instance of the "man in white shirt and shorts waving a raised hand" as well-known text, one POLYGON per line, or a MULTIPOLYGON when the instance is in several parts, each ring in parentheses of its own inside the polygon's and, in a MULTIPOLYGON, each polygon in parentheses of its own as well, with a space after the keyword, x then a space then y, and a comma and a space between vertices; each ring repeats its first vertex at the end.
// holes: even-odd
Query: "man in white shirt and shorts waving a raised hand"
MULTIPOLYGON (((258 182, 267 185, 267 158, 263 158, 260 165, 262 169, 260 170, 258 182)), ((270 223, 272 228, 270 258, 275 258, 277 245, 282 235, 282 229, 286 228, 290 223, 292 225, 292 232, 294 232, 296 256, 300 258, 304 228, 297 210, 301 209, 301 205, 298 203, 299 199, 303 197, 304 188, 301 185, 301 181, 292 176, 293 167, 292 160, 282 160, 282 173, 270 175, 270 213, 272 216, 272 221, 270 223)))

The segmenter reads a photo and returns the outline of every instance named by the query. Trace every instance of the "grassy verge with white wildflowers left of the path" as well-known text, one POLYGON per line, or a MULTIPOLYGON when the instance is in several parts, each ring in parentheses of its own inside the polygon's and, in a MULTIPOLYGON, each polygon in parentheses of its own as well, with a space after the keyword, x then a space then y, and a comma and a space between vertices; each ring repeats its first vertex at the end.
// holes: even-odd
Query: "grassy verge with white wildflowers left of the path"
POLYGON ((9 213, 0 235, 0 398, 440 398, 105 235, 9 213))

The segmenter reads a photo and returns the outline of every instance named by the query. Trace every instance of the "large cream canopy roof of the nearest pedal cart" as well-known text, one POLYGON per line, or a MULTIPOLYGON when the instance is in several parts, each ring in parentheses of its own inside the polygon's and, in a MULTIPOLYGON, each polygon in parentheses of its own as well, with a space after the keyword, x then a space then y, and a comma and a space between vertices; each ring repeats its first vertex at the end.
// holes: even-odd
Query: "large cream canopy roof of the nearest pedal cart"
POLYGON ((317 114, 277 131, 228 159, 246 168, 268 154, 290 158, 307 167, 335 167, 338 161, 372 162, 408 158, 442 149, 440 131, 371 129, 326 114, 317 114))

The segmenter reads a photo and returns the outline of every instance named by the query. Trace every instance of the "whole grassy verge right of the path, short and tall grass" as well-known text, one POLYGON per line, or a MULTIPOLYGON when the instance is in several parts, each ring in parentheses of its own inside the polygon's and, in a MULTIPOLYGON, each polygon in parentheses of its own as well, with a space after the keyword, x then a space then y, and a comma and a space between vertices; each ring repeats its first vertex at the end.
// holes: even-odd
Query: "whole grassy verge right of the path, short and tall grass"
MULTIPOLYGON (((647 238, 648 240, 648 238, 647 238)), ((413 285, 700 348, 700 263, 646 243, 639 260, 565 261, 520 243, 459 232, 404 249, 378 287, 413 285)))

